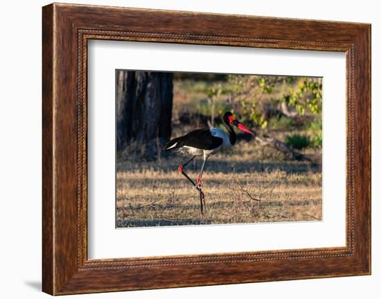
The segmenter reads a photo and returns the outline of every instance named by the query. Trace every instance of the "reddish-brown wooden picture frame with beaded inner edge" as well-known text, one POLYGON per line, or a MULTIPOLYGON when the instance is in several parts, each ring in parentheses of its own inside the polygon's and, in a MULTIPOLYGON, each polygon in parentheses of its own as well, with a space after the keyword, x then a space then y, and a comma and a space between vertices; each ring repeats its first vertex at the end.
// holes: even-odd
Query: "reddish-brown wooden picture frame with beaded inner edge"
MULTIPOLYGON (((371 26, 53 3, 42 10, 42 290, 52 295, 371 273, 371 26), (87 258, 87 41, 346 53, 346 246, 87 258)), ((345 154, 345 153, 343 153, 345 154)))

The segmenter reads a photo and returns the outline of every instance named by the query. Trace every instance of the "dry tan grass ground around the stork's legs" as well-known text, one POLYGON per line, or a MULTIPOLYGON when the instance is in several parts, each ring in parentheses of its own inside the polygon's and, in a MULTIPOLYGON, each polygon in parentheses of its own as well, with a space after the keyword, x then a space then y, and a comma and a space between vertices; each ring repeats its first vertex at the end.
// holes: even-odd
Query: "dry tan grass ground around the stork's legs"
MULTIPOLYGON (((157 161, 118 160, 117 226, 190 225, 321 220, 321 171, 308 162, 288 161, 254 142, 241 142, 206 163, 200 197, 177 167, 187 157, 157 161)), ((187 166, 197 177, 200 160, 187 166)))

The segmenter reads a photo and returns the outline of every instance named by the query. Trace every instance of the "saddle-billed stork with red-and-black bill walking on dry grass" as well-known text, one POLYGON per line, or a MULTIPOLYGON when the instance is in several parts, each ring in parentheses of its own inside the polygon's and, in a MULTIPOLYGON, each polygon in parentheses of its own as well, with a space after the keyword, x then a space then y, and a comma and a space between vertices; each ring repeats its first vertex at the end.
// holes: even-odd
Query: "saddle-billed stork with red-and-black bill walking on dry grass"
POLYGON ((177 150, 183 154, 192 155, 190 160, 179 166, 179 173, 185 176, 200 192, 201 214, 204 214, 205 207, 205 195, 204 192, 202 192, 201 185, 202 173, 204 172, 206 160, 210 155, 213 155, 214 153, 217 153, 221 150, 227 150, 236 144, 236 133, 234 132, 231 125, 236 126, 246 133, 254 134, 251 132, 251 130, 243 126, 242 123, 240 123, 235 117, 233 117, 233 114, 231 114, 229 111, 225 112, 224 116, 222 117, 222 123, 224 124, 225 128, 227 128, 229 135, 227 135, 227 133, 225 133, 224 130, 220 128, 197 129, 189 132, 184 136, 171 139, 163 146, 164 151, 177 150), (193 180, 189 178, 184 171, 184 168, 197 156, 202 156, 204 161, 202 162, 200 174, 196 182, 193 182, 193 180))

